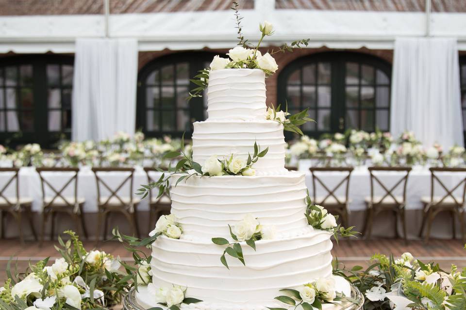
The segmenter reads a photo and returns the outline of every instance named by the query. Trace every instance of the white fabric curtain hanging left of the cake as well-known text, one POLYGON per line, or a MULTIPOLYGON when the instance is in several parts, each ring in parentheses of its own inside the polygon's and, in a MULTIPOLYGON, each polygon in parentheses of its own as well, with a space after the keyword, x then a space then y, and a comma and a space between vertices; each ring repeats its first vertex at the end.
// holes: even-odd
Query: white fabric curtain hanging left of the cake
POLYGON ((102 140, 117 131, 134 134, 136 39, 77 39, 72 139, 102 140))

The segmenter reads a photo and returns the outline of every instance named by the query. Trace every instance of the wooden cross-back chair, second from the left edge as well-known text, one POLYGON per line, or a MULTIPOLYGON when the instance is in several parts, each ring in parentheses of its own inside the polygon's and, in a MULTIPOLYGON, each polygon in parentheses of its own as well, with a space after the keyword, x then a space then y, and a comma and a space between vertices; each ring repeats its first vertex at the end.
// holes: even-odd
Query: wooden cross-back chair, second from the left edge
POLYGON ((58 213, 64 213, 69 215, 76 226, 76 229, 80 235, 84 235, 87 239, 87 231, 84 224, 83 217, 83 205, 84 198, 78 197, 78 173, 79 168, 71 167, 40 167, 35 169, 39 173, 41 189, 42 189, 42 228, 40 234, 40 244, 44 242, 45 226, 50 216, 50 240, 53 240, 55 231, 55 217, 58 213), (69 172, 69 173, 67 173, 69 172), (59 186, 52 185, 48 175, 53 174, 69 174, 67 182, 62 182, 59 186), (66 196, 64 191, 71 186, 71 196, 66 196), (46 188, 50 189, 53 194, 50 196, 47 194, 46 188))

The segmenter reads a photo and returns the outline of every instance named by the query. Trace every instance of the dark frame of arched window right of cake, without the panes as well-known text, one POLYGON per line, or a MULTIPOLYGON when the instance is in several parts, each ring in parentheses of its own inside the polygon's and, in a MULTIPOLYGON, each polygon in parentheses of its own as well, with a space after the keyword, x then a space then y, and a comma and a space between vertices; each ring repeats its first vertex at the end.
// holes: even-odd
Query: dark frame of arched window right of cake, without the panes
MULTIPOLYGON (((316 130, 313 131, 306 131, 303 132, 311 137, 319 138, 322 134, 327 133, 335 133, 335 132, 344 132, 348 129, 347 127, 347 110, 357 110, 358 111, 358 126, 361 127, 361 111, 372 111, 374 117, 374 127, 377 127, 376 122, 376 112, 377 110, 387 110, 388 111, 388 130, 390 129, 390 93, 391 93, 391 67, 392 65, 389 62, 384 61, 381 58, 378 58, 373 55, 359 53, 359 52, 350 52, 350 51, 327 51, 321 52, 316 54, 310 54, 306 56, 302 56, 290 63, 288 63, 283 70, 280 72, 278 76, 278 87, 277 87, 277 103, 284 104, 285 100, 287 99, 287 82, 288 78, 298 69, 303 68, 306 65, 317 64, 320 62, 330 62, 331 64, 331 119, 330 119, 330 130, 319 130, 316 126, 316 130), (368 86, 372 86, 374 88, 374 100, 376 100, 377 96, 377 87, 379 84, 376 84, 375 76, 377 74, 377 69, 383 71, 388 77, 388 84, 384 84, 388 86, 388 106, 384 108, 377 107, 376 102, 374 101, 374 107, 372 108, 362 108, 361 107, 361 86, 365 86, 361 84, 361 75, 359 74, 359 81, 358 84, 355 85, 358 87, 358 108, 348 108, 346 107, 346 63, 347 62, 356 62, 358 63, 358 72, 361 70, 362 65, 369 65, 375 68, 374 70, 374 83, 368 84, 368 86), (342 121, 343 120, 343 121, 342 121), (341 124, 343 123, 343 128, 341 124)), ((302 71, 300 70, 300 109, 305 109, 307 107, 303 107, 303 96, 302 96, 302 71)), ((316 65, 317 71, 317 65, 316 65)), ((349 85, 349 84, 348 84, 349 85)), ((352 85, 352 84, 351 84, 352 85)), ((317 78, 315 78, 315 87, 321 86, 318 83, 317 78)), ((382 85, 381 85, 382 86, 382 85)), ((316 102, 318 100, 318 92, 316 91, 316 102)), ((318 109, 317 104, 316 108, 311 109, 318 109)), ((322 109, 322 108, 320 108, 322 109)), ((292 135, 287 134, 287 138, 291 139, 292 135)))

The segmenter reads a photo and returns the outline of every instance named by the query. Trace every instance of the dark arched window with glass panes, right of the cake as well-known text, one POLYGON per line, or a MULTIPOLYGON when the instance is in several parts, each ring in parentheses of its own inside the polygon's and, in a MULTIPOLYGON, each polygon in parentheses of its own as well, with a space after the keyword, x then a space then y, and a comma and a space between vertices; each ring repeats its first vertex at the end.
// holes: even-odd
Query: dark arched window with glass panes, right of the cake
POLYGON ((301 57, 278 77, 278 103, 295 113, 310 108, 316 123, 302 130, 323 133, 355 128, 386 131, 390 124, 391 66, 360 53, 325 52, 301 57))

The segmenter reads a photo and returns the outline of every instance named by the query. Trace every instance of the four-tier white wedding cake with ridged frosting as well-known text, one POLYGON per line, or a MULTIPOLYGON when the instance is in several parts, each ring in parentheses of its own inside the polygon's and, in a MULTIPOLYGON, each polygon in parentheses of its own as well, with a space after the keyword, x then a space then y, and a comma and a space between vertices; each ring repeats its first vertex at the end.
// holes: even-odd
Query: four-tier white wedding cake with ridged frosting
POLYGON ((177 286, 201 300, 182 309, 293 309, 287 299, 274 299, 282 289, 310 303, 320 294, 329 301, 323 309, 341 308, 330 302, 336 294, 349 296, 350 285, 332 275, 332 233, 313 228, 305 216, 304 174, 284 168, 283 124, 266 119, 264 71, 213 70, 208 82, 209 117, 194 123, 193 161, 202 165, 232 154, 246 160, 254 143, 268 152, 246 175, 194 175, 172 186, 171 214, 183 233, 179 239, 161 235, 152 244, 151 283, 138 287, 138 303, 161 307, 166 291, 177 286), (257 228, 254 248, 244 242, 250 238, 245 221, 257 228), (244 263, 234 252, 225 256, 228 244, 212 238, 239 243, 244 263))

